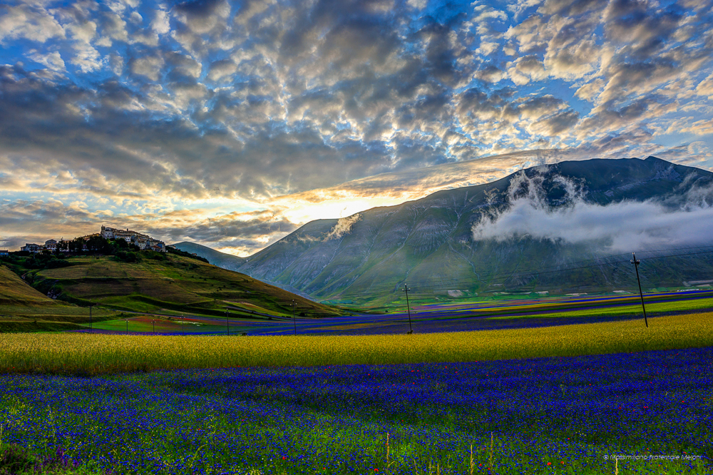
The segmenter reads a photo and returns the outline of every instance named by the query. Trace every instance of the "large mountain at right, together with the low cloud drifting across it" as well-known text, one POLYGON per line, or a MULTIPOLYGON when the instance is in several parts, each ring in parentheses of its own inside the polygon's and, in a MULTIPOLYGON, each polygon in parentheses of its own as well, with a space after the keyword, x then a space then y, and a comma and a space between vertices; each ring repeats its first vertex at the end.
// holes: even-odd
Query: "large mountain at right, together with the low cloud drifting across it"
MULTIPOLYGON (((400 299, 404 282, 436 298, 633 290, 630 254, 605 256, 671 247, 677 241, 664 235, 684 239, 678 228, 691 223, 710 240, 713 228, 701 228, 707 215, 691 221, 697 215, 684 211, 710 208, 712 184, 713 173, 655 157, 540 165, 493 183, 312 221, 234 268, 322 300, 382 304, 400 299), (647 229, 649 217, 661 230, 647 229)), ((642 255, 645 288, 713 280, 710 254, 657 256, 642 255)))

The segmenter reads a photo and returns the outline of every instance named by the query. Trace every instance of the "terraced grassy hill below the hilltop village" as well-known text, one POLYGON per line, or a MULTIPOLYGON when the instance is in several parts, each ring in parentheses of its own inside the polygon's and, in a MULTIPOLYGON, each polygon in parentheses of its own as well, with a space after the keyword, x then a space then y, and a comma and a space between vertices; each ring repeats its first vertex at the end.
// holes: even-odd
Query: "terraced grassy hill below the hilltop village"
POLYGON ((337 308, 200 260, 158 252, 137 255, 138 262, 115 256, 69 257, 66 267, 49 269, 18 262, 16 270, 26 267, 26 281, 41 293, 29 290, 37 295, 116 311, 222 316, 230 307, 231 315, 291 316, 294 299, 298 316, 340 315, 337 308))

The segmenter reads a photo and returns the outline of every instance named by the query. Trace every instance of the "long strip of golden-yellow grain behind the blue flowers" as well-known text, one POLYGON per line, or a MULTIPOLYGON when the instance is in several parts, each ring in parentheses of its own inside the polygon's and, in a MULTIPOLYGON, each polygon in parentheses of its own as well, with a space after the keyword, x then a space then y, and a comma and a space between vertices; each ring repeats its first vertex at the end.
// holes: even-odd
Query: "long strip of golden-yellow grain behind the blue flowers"
POLYGON ((639 320, 371 336, 153 337, 0 334, 0 372, 106 374, 175 368, 472 362, 713 346, 713 313, 639 320))

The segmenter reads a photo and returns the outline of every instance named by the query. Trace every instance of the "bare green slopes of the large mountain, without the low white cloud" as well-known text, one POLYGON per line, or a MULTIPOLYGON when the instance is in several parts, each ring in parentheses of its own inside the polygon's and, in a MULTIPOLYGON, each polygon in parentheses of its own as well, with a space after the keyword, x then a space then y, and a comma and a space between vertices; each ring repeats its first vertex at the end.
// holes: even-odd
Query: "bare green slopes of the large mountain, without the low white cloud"
MULTIPOLYGON (((524 173, 540 180, 545 199, 553 207, 567 198, 563 179, 581 188, 587 203, 657 199, 671 207, 680 205, 694 187, 713 183, 713 173, 654 157, 562 162, 524 173)), ((235 268, 322 300, 381 303, 400 298, 396 292, 404 282, 436 297, 498 290, 586 292, 602 286, 635 285, 632 265, 612 265, 611 260, 563 270, 577 267, 574 262, 601 257, 583 245, 526 236, 500 242, 473 240, 473 225, 487 213, 507 208, 508 188, 520 178, 513 174, 485 185, 442 190, 421 200, 366 210, 343 235, 334 235, 338 220, 312 221, 235 268), (519 275, 543 267, 548 272, 519 275)), ((645 287, 713 279, 709 255, 645 265, 645 287)))

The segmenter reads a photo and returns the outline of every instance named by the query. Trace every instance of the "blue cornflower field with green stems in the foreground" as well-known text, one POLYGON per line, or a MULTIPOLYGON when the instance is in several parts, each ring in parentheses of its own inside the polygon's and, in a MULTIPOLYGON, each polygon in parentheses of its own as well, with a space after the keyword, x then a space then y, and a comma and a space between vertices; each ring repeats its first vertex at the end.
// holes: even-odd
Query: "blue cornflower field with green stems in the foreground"
POLYGON ((114 474, 711 474, 712 360, 5 374, 1 436, 114 474))

